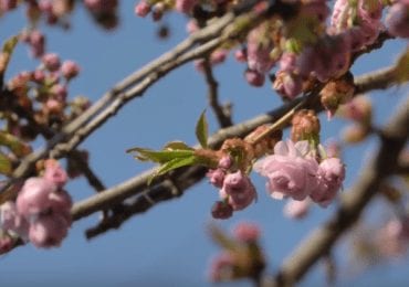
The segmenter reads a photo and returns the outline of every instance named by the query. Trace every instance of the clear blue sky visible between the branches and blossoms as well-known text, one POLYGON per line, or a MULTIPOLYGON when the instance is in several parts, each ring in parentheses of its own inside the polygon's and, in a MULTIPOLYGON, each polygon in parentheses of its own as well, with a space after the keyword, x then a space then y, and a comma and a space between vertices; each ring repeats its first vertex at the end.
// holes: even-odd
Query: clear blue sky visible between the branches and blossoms
MULTIPOLYGON (((114 83, 186 36, 185 19, 170 15, 165 19, 171 29, 170 39, 159 41, 155 36, 157 25, 150 19, 136 18, 133 2, 123 1, 120 26, 112 32, 97 28, 82 8, 73 14, 71 31, 44 30, 48 51, 57 52, 62 59, 74 60, 82 66, 81 76, 70 86, 71 97, 86 95, 95 100, 114 83)), ((17 33, 23 25, 22 11, 1 19, 0 40, 17 33)), ((359 59, 353 72, 361 74, 394 63, 405 45, 403 41, 389 41, 384 50, 359 59)), ((28 56, 27 47, 19 45, 8 76, 31 70, 36 64, 28 56)), ((250 87, 243 81, 243 71, 244 66, 231 59, 216 68, 220 98, 233 103, 235 123, 273 109, 281 103, 268 85, 260 89, 250 87)), ((390 107, 396 106, 407 92, 407 88, 392 88, 373 93, 376 123, 384 123, 392 110, 390 107)), ((143 98, 133 100, 81 147, 90 150, 91 163, 104 183, 115 185, 150 167, 125 153, 129 147, 159 148, 175 139, 196 144, 195 124, 207 107, 206 95, 203 76, 188 64, 149 88, 143 98)), ((216 131, 218 126, 211 113, 208 118, 210 131, 216 131)), ((337 137, 343 121, 322 119, 322 138, 337 137)), ((347 150, 346 188, 359 173, 361 159, 369 156, 376 144, 376 140, 369 140, 347 150)), ((325 221, 334 206, 315 208, 310 217, 294 223, 283 217, 283 202, 265 194, 263 180, 259 177, 253 180, 259 190, 258 203, 221 224, 230 227, 241 220, 259 222, 264 235, 262 244, 271 263, 269 270, 273 272, 313 226, 325 221)), ((70 182, 67 190, 75 200, 93 194, 84 180, 70 182)), ((209 286, 207 267, 218 248, 207 236, 206 226, 211 222, 209 211, 216 200, 217 191, 203 181, 181 199, 159 204, 133 217, 119 231, 87 242, 83 232, 98 220, 97 215, 90 216, 74 224, 61 248, 43 251, 29 245, 0 257, 0 286, 53 286, 56 283, 60 286, 209 286)), ((360 276, 344 278, 337 285, 407 285, 408 266, 408 262, 385 264, 360 276)), ((317 284, 324 284, 319 267, 314 268, 302 286, 317 284)), ((243 283, 243 286, 248 285, 243 283)))

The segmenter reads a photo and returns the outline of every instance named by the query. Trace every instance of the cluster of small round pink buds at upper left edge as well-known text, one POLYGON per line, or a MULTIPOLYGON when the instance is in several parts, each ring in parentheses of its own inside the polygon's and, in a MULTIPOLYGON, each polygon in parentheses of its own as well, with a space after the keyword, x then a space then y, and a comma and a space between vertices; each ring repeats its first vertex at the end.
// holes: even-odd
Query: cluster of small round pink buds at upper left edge
MULTIPOLYGON (((14 105, 20 106, 27 115, 32 115, 36 124, 60 126, 78 114, 74 113, 74 108, 66 110, 71 105, 67 103, 67 86, 78 73, 80 67, 75 62, 61 62, 56 54, 48 53, 41 57, 36 70, 19 73, 7 83, 7 87, 13 94, 14 105)), ((83 106, 82 111, 90 105, 80 104, 83 106)), ((7 119, 10 132, 18 137, 30 140, 39 132, 34 127, 20 121, 19 117, 10 116, 7 119)))

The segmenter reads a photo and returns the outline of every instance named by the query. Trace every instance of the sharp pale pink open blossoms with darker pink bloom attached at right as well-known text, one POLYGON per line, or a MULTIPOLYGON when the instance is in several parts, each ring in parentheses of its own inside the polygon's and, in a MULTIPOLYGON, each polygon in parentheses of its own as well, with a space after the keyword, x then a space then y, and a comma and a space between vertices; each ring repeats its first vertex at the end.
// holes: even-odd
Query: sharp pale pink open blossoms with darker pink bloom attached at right
POLYGON ((324 208, 334 200, 345 179, 343 162, 338 158, 318 162, 307 141, 277 142, 274 155, 258 161, 254 170, 268 178, 266 189, 273 199, 310 198, 324 208))

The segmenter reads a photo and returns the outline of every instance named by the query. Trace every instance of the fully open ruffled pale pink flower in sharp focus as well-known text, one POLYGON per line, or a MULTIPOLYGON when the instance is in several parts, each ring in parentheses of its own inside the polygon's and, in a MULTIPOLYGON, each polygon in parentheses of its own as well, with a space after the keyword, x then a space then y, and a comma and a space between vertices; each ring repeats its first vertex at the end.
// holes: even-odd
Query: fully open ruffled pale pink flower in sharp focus
POLYGON ((254 164, 254 170, 268 178, 266 189, 272 198, 304 200, 317 187, 318 163, 307 152, 305 141, 279 141, 274 155, 254 164))

